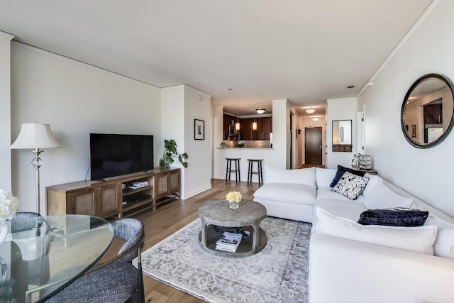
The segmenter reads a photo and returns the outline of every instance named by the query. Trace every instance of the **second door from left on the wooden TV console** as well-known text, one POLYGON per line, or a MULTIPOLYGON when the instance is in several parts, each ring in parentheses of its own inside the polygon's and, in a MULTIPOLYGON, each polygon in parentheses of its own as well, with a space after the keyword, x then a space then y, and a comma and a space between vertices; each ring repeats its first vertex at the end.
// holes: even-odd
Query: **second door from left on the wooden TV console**
POLYGON ((122 190, 121 183, 99 188, 98 216, 107 218, 121 211, 122 190))

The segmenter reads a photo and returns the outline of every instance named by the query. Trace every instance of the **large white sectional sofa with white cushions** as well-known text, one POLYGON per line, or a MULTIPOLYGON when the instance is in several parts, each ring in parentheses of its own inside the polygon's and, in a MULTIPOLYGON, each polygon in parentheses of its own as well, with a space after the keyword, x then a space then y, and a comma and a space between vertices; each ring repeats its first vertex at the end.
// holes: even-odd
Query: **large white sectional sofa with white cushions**
POLYGON ((337 170, 265 167, 254 201, 313 224, 309 302, 454 302, 454 219, 376 175, 358 199, 331 191, 337 170), (428 211, 419 227, 364 226, 362 211, 428 211))

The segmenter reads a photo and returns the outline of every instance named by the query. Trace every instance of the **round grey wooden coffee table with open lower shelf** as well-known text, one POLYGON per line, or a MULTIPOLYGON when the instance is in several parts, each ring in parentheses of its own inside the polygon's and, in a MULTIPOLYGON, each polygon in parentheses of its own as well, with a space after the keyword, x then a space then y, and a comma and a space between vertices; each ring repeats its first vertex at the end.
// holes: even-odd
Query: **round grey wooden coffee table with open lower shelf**
POLYGON ((260 228, 260 222, 267 216, 267 209, 260 203, 241 200, 238 209, 228 207, 226 199, 206 202, 199 207, 201 231, 199 243, 201 248, 214 255, 228 258, 247 257, 258 253, 267 244, 267 235, 260 228), (252 237, 241 240, 235 253, 216 250, 216 241, 222 236, 222 231, 216 231, 214 226, 252 228, 252 237), (252 240, 251 240, 252 239, 252 240))

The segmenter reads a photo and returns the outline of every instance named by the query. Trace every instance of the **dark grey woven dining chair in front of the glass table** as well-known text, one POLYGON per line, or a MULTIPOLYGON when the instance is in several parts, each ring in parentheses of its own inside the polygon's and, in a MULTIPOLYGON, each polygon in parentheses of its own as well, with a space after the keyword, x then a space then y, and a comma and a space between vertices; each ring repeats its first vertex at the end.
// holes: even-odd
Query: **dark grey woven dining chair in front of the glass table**
MULTIPOLYGON (((143 276, 140 250, 143 246, 142 221, 133 218, 113 221, 114 237, 126 243, 108 263, 95 265, 46 302, 139 302, 143 303, 143 276), (137 268, 132 264, 138 258, 137 268)), ((55 275, 52 279, 58 279, 55 275)), ((51 279, 51 280, 52 280, 51 279)), ((48 290, 50 293, 52 290, 48 290)))

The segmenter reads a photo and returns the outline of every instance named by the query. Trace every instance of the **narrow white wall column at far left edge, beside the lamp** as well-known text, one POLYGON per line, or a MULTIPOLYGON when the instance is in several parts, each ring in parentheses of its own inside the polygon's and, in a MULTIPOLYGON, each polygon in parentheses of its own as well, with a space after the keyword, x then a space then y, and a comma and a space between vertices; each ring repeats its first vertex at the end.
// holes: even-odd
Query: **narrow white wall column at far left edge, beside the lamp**
MULTIPOLYGON (((11 191, 11 39, 0 32, 0 189, 11 191)), ((13 192, 16 194, 16 192, 13 192)))

